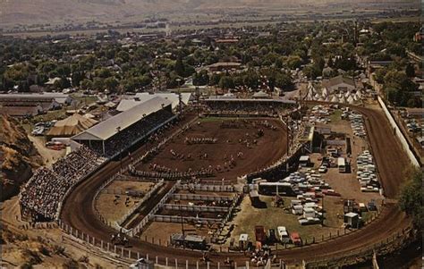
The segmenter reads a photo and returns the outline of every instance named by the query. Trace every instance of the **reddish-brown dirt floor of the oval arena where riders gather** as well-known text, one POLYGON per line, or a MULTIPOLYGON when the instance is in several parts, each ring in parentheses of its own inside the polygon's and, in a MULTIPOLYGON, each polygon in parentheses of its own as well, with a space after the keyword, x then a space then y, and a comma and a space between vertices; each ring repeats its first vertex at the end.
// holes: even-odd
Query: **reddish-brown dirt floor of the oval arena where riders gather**
MULTIPOLYGON (((159 164, 171 168, 173 171, 187 171, 191 168, 193 171, 200 168, 216 168, 220 165, 222 168, 225 162, 233 156, 236 165, 226 171, 216 172, 214 177, 208 180, 226 180, 236 179, 238 176, 248 172, 254 172, 261 168, 273 164, 284 156, 286 152, 285 130, 282 122, 273 119, 247 119, 238 120, 240 128, 221 128, 222 119, 205 118, 200 121, 200 124, 192 124, 190 129, 178 135, 169 141, 163 150, 149 164, 159 164), (276 130, 270 130, 259 122, 270 122, 276 126, 276 130), (264 130, 264 135, 257 137, 257 131, 264 130), (185 143, 185 138, 215 138, 214 144, 191 144, 185 143), (247 139, 250 147, 240 143, 239 139, 247 139), (253 145, 253 140, 258 141, 257 145, 253 145), (180 160, 174 158, 170 153, 173 150, 176 154, 189 156, 191 160, 180 160), (237 157, 237 154, 242 152, 242 157, 237 157), (206 159, 199 159, 199 155, 207 154, 206 159), (225 160, 225 156, 227 160, 225 160)), ((231 121, 225 119, 226 121, 231 121)), ((140 164, 137 169, 149 171, 149 164, 140 164)))

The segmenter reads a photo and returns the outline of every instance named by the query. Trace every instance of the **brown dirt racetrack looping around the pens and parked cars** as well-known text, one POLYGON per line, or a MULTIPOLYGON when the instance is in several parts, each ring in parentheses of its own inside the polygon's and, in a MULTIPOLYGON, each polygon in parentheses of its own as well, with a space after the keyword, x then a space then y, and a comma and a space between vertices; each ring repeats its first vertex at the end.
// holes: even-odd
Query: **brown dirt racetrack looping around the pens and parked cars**
MULTIPOLYGON (((380 179, 387 198, 396 198, 400 186, 403 183, 403 168, 406 168, 410 162, 403 152, 400 143, 395 138, 385 115, 379 111, 364 107, 351 106, 363 113, 367 118, 366 126, 369 135, 369 143, 372 147, 372 153, 377 162, 380 179)), ((135 155, 142 154, 144 150, 139 148, 135 155)), ((128 163, 127 158, 124 159, 128 163)), ((64 223, 72 227, 89 233, 100 240, 108 241, 110 235, 114 232, 112 228, 101 223, 93 211, 93 198, 96 190, 113 172, 119 169, 118 162, 111 162, 96 172, 86 181, 81 182, 64 201, 64 208, 61 219, 64 223)), ((349 235, 339 237, 335 240, 329 240, 320 244, 314 244, 306 248, 293 248, 280 250, 276 254, 286 262, 301 262, 301 260, 318 259, 327 256, 348 255, 353 250, 372 246, 379 240, 385 240, 396 231, 402 231, 410 224, 410 220, 401 213, 398 207, 393 203, 386 203, 383 212, 376 221, 370 223, 360 231, 349 235)), ((179 260, 188 259, 193 262, 199 260, 199 252, 185 251, 177 248, 165 248, 153 245, 140 240, 131 240, 131 250, 140 251, 149 256, 160 256, 162 263, 165 256, 168 258, 178 258, 179 260)), ((223 253, 211 256, 212 265, 217 261, 223 262, 227 256, 235 261, 245 261, 246 257, 241 253, 223 253)))

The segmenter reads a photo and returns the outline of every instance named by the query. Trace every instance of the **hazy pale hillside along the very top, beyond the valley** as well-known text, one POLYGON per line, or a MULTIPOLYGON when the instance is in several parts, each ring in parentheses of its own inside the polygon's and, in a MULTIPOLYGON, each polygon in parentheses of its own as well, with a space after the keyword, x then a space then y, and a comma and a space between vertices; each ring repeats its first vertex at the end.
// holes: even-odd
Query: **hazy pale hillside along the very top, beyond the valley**
MULTIPOLYGON (((358 3, 394 0, 358 0, 358 3)), ((399 2, 399 1, 397 1, 399 2)), ((401 1, 402 2, 402 1, 401 1)), ((202 12, 231 9, 273 9, 351 4, 348 0, 0 0, 0 24, 116 21, 143 14, 173 11, 202 12)))

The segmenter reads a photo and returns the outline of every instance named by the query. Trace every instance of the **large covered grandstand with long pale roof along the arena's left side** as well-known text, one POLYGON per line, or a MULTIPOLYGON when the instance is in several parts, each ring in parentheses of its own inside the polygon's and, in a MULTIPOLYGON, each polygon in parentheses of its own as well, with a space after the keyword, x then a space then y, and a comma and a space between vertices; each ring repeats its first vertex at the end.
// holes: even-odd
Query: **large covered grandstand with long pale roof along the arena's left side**
POLYGON ((175 117, 169 100, 154 97, 84 130, 73 136, 72 140, 89 147, 100 156, 113 158, 175 117))

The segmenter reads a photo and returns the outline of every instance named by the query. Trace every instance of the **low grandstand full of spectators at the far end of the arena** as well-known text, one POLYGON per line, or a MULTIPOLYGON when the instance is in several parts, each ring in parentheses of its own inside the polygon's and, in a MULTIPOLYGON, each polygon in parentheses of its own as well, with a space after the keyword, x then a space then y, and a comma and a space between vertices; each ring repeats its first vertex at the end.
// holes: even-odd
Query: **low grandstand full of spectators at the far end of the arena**
POLYGON ((208 98, 202 100, 205 113, 210 116, 271 116, 276 117, 284 108, 293 107, 295 101, 278 99, 208 98))

